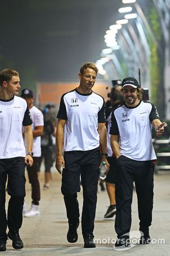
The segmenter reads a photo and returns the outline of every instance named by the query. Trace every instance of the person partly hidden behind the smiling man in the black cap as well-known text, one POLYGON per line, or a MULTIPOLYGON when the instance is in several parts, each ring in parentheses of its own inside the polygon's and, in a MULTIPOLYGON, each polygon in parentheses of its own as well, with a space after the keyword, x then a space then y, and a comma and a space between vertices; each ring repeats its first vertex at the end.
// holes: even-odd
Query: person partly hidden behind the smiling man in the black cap
MULTIPOLYGON (((120 81, 120 80, 113 80, 113 81, 120 81)), ((115 84, 115 83, 114 83, 115 84)), ((105 110, 105 116, 106 116, 106 125, 107 125, 107 153, 108 153, 108 162, 110 164, 109 172, 107 174, 107 177, 105 179, 105 184, 110 200, 110 205, 108 207, 107 212, 104 215, 104 218, 112 218, 116 214, 116 198, 115 198, 115 183, 116 183, 116 157, 113 154, 112 148, 111 148, 111 135, 110 127, 111 127, 111 115, 112 111, 116 109, 119 105, 123 104, 124 100, 121 95, 121 84, 116 84, 112 87, 111 93, 109 95, 110 97, 110 103, 107 104, 108 108, 105 110)))

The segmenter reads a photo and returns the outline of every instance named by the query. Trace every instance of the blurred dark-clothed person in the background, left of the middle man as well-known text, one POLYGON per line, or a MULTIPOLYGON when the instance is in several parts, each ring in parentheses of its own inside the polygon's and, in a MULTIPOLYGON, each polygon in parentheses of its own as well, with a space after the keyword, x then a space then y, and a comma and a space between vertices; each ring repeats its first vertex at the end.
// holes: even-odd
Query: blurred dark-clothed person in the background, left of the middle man
POLYGON ((44 159, 44 189, 49 189, 49 182, 52 179, 51 167, 56 158, 56 146, 53 140, 53 137, 56 136, 56 117, 53 108, 54 105, 47 104, 44 110, 42 110, 44 115, 44 131, 41 137, 41 162, 44 159))

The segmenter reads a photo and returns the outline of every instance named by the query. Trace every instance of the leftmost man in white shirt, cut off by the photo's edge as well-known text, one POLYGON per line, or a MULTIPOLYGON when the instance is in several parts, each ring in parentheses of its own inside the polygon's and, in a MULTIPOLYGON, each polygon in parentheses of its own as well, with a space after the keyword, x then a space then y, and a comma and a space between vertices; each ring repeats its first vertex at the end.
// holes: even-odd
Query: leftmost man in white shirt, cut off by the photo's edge
POLYGON ((0 73, 0 251, 6 251, 7 236, 14 249, 22 249, 19 229, 23 221, 25 164, 32 166, 32 119, 27 102, 18 97, 18 72, 4 69, 0 73), (22 135, 24 127, 27 152, 22 135), (8 181, 7 181, 8 177, 8 181), (5 187, 10 195, 6 216, 5 187), (6 229, 9 229, 8 235, 6 229))

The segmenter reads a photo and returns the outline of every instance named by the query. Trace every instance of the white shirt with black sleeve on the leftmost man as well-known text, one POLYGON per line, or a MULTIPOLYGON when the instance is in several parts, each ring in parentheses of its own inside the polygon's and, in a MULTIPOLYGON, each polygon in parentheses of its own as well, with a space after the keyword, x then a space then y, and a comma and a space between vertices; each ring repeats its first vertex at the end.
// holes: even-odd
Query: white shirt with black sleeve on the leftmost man
POLYGON ((23 98, 0 99, 0 159, 25 157, 22 126, 31 124, 31 115, 23 98))

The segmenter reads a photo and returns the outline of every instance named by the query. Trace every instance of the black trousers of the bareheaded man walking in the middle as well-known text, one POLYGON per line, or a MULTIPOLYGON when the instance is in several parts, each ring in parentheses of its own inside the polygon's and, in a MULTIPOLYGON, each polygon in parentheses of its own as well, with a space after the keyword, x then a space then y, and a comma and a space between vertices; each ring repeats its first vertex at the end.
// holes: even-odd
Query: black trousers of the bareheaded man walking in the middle
POLYGON ((77 192, 80 191, 80 175, 83 187, 82 234, 92 234, 97 203, 97 183, 99 180, 99 147, 88 151, 64 152, 65 169, 62 172, 61 191, 70 224, 79 221, 77 192))

